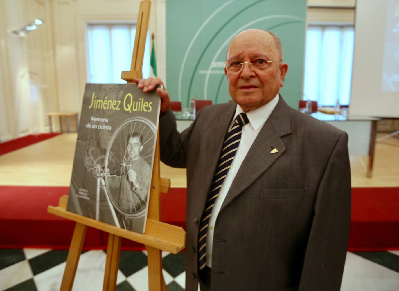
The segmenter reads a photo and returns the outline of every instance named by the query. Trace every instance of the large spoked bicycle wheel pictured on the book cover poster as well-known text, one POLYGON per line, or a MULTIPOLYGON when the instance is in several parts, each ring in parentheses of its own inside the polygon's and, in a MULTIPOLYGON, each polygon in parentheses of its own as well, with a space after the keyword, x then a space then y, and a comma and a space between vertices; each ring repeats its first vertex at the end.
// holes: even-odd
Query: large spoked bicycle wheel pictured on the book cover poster
POLYGON ((155 137, 155 126, 150 120, 133 117, 119 126, 107 148, 104 165, 107 194, 115 209, 124 216, 134 218, 145 214, 155 137), (134 158, 134 151, 129 147, 133 137, 138 140, 136 149, 140 149, 134 158), (134 172, 135 181, 140 182, 140 189, 134 187, 130 169, 134 172))

